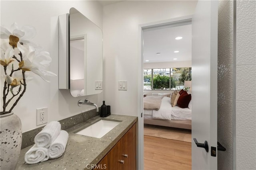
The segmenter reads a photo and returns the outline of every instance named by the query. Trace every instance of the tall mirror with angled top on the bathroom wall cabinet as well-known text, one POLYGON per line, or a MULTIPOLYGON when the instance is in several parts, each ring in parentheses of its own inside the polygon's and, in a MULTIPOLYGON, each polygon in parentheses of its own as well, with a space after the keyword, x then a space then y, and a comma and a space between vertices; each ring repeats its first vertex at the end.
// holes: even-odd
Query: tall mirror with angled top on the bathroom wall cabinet
POLYGON ((102 30, 70 8, 70 93, 73 97, 102 92, 102 30))

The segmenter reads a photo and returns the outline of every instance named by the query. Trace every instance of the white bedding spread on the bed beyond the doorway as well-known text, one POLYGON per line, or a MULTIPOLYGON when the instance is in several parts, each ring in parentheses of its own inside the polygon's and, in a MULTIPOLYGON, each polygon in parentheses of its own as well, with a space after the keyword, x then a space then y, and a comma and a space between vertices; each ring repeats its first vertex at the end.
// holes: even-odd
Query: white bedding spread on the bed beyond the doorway
POLYGON ((178 106, 172 107, 169 97, 162 98, 161 107, 158 110, 146 110, 144 109, 144 115, 152 115, 157 119, 180 119, 191 120, 191 109, 180 108, 178 106))

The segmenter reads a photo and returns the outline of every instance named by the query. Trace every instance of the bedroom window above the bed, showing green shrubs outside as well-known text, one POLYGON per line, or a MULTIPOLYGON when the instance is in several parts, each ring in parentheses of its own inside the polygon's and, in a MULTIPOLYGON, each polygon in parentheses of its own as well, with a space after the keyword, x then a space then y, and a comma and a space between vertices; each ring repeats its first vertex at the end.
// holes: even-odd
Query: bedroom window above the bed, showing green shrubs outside
POLYGON ((180 90, 191 75, 191 67, 144 69, 144 90, 180 90))

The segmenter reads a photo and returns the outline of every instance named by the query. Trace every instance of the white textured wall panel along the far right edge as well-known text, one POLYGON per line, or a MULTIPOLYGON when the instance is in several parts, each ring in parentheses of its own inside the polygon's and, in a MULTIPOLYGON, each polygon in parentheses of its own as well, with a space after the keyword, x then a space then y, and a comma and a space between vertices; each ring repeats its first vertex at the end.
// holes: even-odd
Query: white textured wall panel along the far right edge
POLYGON ((236 169, 256 169, 256 1, 236 1, 236 169))

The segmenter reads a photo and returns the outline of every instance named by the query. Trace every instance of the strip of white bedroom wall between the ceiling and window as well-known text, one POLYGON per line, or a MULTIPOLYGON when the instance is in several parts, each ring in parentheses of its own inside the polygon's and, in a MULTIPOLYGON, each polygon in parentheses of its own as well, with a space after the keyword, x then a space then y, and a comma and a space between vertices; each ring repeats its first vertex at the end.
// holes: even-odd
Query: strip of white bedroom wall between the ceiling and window
POLYGON ((164 62, 164 63, 144 63, 143 68, 182 68, 191 67, 191 61, 174 61, 174 62, 164 62))

